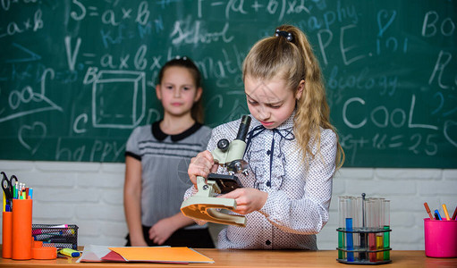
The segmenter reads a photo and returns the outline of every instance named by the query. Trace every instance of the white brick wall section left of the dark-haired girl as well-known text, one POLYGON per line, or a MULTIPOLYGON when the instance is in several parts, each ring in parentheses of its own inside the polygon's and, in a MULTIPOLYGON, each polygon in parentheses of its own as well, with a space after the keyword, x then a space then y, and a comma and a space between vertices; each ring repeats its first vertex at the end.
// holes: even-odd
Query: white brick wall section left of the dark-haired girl
POLYGON ((76 224, 78 244, 123 246, 123 163, 0 161, 33 187, 33 223, 76 224))

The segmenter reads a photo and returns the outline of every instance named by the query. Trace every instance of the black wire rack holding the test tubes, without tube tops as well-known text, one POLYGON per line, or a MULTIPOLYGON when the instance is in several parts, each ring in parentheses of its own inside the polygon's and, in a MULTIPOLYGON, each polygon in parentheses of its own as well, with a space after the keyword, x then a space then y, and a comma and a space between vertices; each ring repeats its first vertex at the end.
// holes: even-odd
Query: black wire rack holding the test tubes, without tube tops
POLYGON ((382 247, 382 248, 370 248, 370 243, 368 239, 376 239, 377 236, 380 234, 385 237, 385 233, 389 233, 392 231, 391 229, 367 229, 367 228, 354 228, 353 230, 346 230, 345 228, 338 228, 338 235, 343 234, 345 237, 348 233, 351 234, 359 234, 360 241, 365 241, 365 243, 361 243, 360 245, 366 245, 366 247, 362 246, 353 246, 352 249, 344 246, 344 247, 336 247, 340 255, 343 255, 343 258, 337 258, 336 260, 343 264, 390 264, 392 260, 390 259, 390 251, 392 250, 391 247, 382 247), (348 255, 352 255, 348 259, 348 255))

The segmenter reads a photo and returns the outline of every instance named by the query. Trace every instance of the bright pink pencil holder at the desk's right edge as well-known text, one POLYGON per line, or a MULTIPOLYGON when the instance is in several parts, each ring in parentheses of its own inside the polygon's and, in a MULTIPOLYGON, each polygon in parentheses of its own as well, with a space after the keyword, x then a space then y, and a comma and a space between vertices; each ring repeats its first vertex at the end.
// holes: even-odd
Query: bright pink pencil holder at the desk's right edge
POLYGON ((424 219, 424 239, 428 257, 457 257, 457 221, 424 219))

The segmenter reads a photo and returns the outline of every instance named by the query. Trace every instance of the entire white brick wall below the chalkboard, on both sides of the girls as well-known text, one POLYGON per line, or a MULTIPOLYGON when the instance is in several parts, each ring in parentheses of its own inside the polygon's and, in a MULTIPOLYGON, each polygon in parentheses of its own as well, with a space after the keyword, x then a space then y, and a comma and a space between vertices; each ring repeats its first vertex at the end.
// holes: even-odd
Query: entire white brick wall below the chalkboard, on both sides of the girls
MULTIPOLYGON (((33 223, 76 224, 80 245, 125 243, 123 163, 0 161, 0 171, 34 188, 33 223)), ((364 192, 391 200, 391 247, 424 249, 423 203, 431 209, 445 203, 453 213, 456 190, 457 170, 343 168, 334 177, 330 221, 317 245, 337 246, 337 197, 364 192)))

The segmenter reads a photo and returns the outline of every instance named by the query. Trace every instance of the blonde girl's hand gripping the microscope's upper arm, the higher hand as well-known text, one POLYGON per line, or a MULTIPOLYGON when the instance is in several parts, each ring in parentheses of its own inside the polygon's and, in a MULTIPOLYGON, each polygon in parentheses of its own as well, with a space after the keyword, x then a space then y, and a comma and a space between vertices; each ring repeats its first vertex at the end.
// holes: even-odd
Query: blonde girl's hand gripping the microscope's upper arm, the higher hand
POLYGON ((192 181, 195 188, 197 188, 197 176, 201 176, 206 180, 210 172, 216 171, 217 164, 208 150, 200 152, 199 155, 190 159, 189 169, 187 170, 190 181, 192 181))

